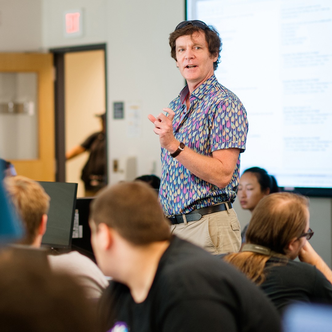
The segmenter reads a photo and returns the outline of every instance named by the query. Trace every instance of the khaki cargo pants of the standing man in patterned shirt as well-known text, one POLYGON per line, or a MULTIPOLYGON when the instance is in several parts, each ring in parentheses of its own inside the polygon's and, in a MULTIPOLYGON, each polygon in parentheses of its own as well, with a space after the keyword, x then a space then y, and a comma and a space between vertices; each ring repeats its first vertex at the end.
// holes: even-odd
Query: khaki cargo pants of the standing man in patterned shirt
POLYGON ((233 208, 171 225, 171 232, 213 254, 238 252, 241 246, 240 223, 233 208))

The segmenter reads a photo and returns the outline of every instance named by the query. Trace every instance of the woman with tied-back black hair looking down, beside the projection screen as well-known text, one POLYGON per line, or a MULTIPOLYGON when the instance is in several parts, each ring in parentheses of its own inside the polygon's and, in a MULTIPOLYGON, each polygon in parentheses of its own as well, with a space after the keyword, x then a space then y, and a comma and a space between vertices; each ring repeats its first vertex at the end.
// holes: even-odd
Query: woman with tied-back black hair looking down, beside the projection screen
MULTIPOLYGON (((251 167, 246 169, 240 177, 237 197, 241 207, 252 212, 262 198, 278 192, 278 183, 273 175, 268 174, 263 168, 251 167)), ((248 225, 245 225, 241 232, 242 243, 245 243, 248 225)))

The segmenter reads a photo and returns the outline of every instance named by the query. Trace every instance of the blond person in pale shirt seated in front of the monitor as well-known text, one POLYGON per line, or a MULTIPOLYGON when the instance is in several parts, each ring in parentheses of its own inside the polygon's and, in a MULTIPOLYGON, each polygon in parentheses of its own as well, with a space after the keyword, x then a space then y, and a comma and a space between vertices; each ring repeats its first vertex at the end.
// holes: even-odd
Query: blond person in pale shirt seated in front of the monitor
MULTIPOLYGON (((49 196, 39 183, 23 176, 5 178, 4 186, 25 228, 25 236, 18 243, 40 248, 46 231, 49 196)), ((98 298, 108 286, 98 266, 77 251, 48 255, 48 261, 54 271, 72 274, 89 298, 98 298)))

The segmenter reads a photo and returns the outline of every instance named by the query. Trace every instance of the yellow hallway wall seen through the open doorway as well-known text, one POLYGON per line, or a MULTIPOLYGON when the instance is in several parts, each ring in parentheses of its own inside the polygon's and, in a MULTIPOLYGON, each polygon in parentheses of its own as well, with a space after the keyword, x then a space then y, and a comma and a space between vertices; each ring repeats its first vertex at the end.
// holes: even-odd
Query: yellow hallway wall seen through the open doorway
MULTIPOLYGON (((65 54, 65 147, 81 144, 90 134, 101 130, 105 113, 104 51, 65 54)), ((78 183, 77 196, 84 196, 81 170, 88 152, 66 162, 66 182, 78 183)))

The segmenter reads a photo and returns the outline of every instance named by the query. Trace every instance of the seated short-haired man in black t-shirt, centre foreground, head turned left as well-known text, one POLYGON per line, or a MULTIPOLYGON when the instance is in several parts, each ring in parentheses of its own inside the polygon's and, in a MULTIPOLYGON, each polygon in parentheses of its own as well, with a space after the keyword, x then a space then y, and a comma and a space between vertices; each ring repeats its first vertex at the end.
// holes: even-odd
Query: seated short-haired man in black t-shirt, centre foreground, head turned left
POLYGON ((141 181, 93 201, 91 243, 113 277, 101 297, 101 331, 278 332, 263 292, 218 257, 171 236, 155 190, 141 181))

